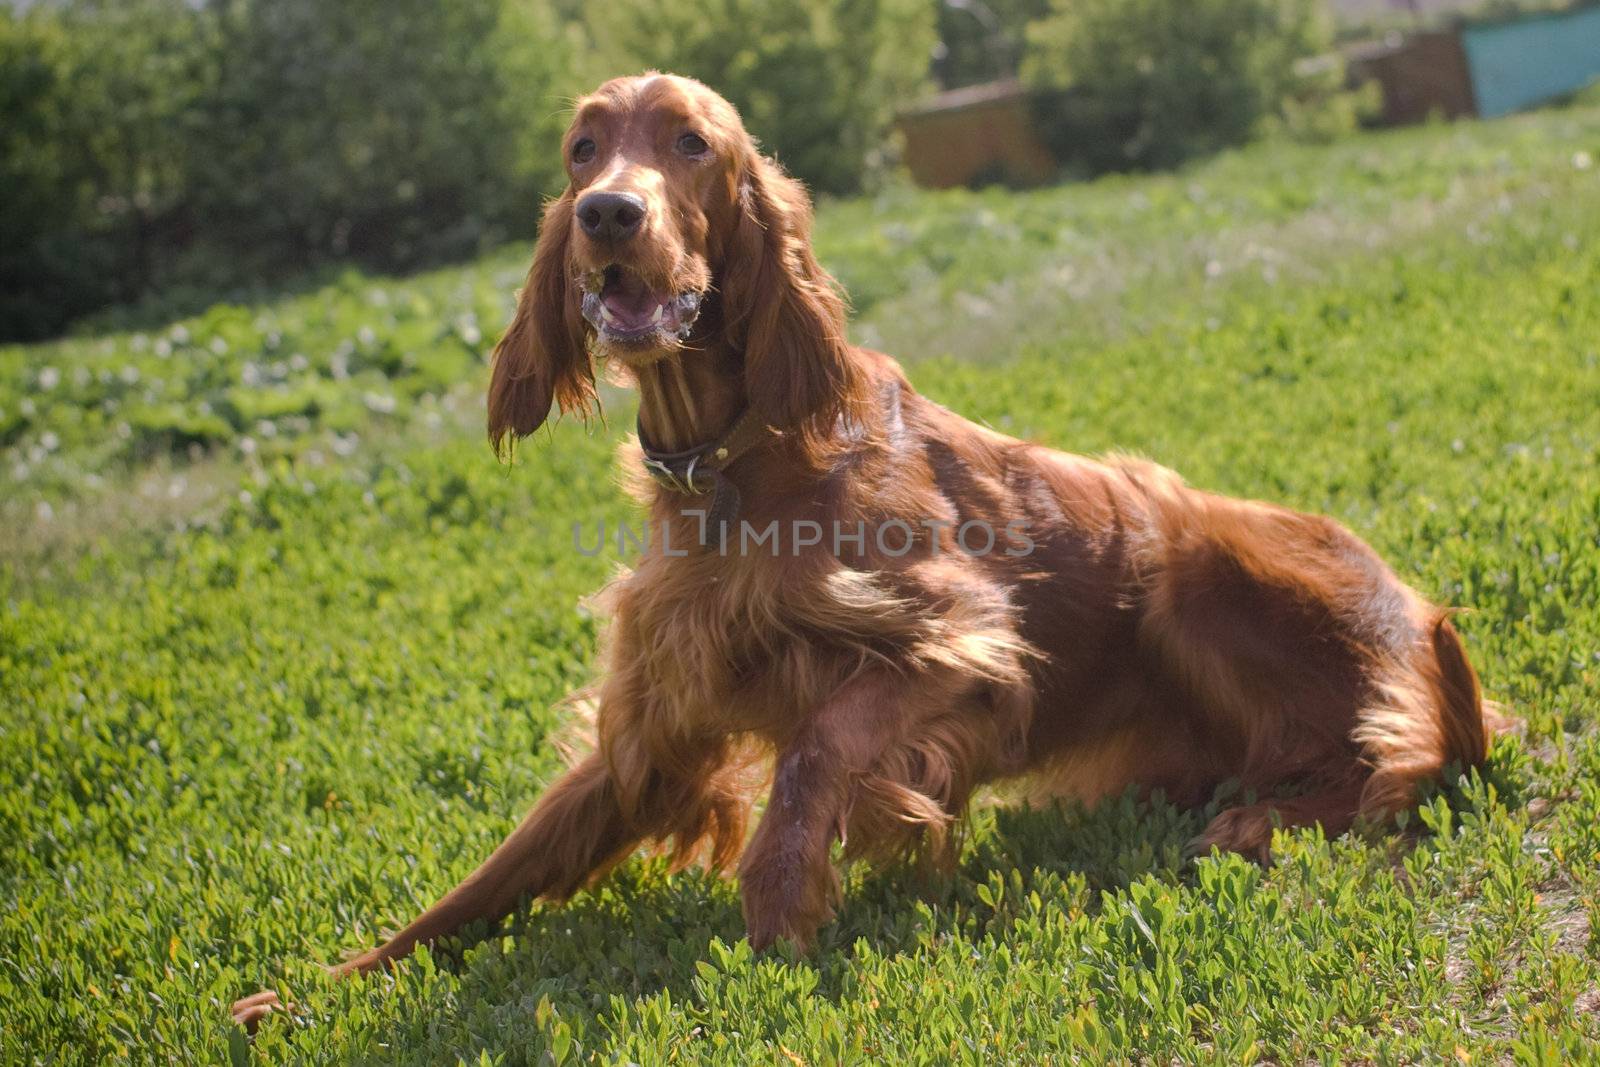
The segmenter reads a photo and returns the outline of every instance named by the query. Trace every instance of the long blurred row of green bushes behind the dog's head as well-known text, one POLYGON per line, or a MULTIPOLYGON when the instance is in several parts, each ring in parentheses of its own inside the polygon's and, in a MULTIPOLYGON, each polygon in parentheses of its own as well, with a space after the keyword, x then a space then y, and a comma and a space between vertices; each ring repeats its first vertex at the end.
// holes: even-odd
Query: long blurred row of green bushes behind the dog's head
POLYGON ((790 171, 853 192, 934 19, 928 0, 0 6, 0 339, 530 235, 570 98, 645 67, 710 82, 790 171))

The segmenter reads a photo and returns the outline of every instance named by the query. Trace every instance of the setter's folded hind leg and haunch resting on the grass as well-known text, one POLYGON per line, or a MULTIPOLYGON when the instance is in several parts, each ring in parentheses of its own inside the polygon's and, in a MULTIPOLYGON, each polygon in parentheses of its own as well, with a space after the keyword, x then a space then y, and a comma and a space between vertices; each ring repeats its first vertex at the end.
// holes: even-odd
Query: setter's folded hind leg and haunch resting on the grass
POLYGON ((1147 576, 1141 638, 1227 776, 1310 787, 1222 813, 1202 846, 1259 856, 1274 821, 1381 822, 1483 761, 1490 723, 1446 613, 1331 520, 1200 498, 1173 510, 1147 576))

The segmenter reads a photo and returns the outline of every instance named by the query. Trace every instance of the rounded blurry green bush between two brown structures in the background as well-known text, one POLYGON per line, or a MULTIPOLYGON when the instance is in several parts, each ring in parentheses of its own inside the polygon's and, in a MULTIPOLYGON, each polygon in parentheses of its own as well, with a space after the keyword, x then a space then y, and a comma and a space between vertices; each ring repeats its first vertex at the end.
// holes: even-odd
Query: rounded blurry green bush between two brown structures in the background
POLYGON ((1267 131, 1355 125, 1320 0, 1051 0, 1024 78, 1048 147, 1085 171, 1174 166, 1267 131))

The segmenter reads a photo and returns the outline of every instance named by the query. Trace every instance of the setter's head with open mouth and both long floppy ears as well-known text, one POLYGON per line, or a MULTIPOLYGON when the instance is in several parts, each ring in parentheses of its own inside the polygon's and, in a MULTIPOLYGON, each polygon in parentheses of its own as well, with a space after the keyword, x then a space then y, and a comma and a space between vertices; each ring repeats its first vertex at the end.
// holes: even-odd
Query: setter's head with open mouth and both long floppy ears
POLYGON ((776 427, 851 403, 845 307, 811 254, 811 203, 728 101, 690 78, 616 78, 578 101, 562 152, 568 186, 494 350, 498 450, 552 403, 587 413, 594 357, 638 370, 725 346, 776 427))

